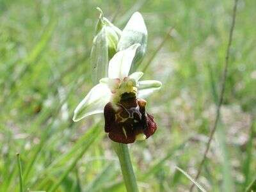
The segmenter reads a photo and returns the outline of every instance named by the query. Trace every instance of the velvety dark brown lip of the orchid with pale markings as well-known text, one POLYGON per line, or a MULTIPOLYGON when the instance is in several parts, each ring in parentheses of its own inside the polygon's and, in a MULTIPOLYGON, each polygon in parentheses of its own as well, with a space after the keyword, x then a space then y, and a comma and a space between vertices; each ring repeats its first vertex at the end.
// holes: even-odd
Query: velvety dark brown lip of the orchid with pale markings
POLYGON ((109 102, 104 108, 105 132, 118 143, 133 143, 138 134, 150 137, 157 129, 154 118, 145 112, 146 101, 122 97, 119 103, 109 102))

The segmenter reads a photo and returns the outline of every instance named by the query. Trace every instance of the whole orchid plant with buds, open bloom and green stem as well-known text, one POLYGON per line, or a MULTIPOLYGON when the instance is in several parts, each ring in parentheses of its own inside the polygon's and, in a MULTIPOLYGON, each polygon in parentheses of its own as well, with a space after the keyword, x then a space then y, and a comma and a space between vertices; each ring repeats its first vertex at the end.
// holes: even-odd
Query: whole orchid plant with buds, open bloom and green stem
POLYGON ((132 15, 121 33, 100 10, 96 34, 92 57, 99 81, 78 104, 73 120, 104 113, 104 131, 115 141, 113 147, 127 191, 138 191, 126 144, 146 140, 156 131, 154 117, 146 111, 145 99, 159 90, 162 83, 141 81, 143 72, 130 74, 132 65, 142 60, 147 46, 147 28, 140 13, 132 15))

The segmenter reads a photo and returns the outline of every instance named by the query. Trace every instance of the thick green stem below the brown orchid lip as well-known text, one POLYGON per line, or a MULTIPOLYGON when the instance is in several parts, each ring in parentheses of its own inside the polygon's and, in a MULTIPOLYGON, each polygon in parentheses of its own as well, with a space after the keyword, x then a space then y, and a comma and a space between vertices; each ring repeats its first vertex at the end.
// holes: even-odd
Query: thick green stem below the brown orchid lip
POLYGON ((136 177, 132 169, 132 163, 127 144, 113 142, 113 148, 118 156, 127 192, 138 192, 136 177))

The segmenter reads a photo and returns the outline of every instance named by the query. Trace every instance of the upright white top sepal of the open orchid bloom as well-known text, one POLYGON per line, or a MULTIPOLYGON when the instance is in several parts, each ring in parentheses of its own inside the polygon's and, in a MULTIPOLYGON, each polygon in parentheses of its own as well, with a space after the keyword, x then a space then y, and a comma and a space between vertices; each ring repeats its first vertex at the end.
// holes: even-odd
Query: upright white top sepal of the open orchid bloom
POLYGON ((111 79, 123 79, 127 77, 131 68, 132 60, 135 56, 136 49, 140 44, 131 45, 129 48, 118 51, 109 61, 108 77, 111 79))

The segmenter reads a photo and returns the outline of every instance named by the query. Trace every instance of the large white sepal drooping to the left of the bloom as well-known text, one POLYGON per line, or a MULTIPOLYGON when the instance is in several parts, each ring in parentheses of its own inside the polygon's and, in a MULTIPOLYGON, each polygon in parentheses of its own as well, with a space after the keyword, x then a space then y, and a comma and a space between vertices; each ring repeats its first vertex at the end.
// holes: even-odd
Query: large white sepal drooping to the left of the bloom
POLYGON ((89 115, 103 113, 104 106, 109 102, 110 97, 111 92, 107 84, 99 83, 94 86, 75 109, 74 122, 89 115))

